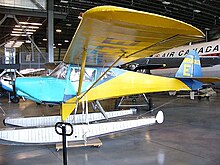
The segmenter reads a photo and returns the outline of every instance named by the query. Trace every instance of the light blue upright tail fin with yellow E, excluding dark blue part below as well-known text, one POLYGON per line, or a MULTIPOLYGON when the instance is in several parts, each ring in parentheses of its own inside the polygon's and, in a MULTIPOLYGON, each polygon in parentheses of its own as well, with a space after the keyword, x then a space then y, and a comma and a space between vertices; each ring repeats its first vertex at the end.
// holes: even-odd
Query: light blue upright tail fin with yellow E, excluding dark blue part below
POLYGON ((200 58, 195 50, 189 51, 175 75, 176 78, 202 77, 200 58))

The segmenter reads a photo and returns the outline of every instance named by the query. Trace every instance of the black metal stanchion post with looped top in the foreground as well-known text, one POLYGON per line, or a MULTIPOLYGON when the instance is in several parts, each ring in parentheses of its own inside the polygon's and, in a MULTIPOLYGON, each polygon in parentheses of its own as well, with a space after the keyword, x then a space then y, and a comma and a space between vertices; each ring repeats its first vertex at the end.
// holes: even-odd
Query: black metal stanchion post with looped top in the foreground
POLYGON ((73 126, 70 123, 57 122, 55 125, 55 131, 58 135, 62 135, 62 139, 63 139, 63 165, 67 165, 66 136, 71 136, 73 134, 73 126), (69 133, 67 133, 67 129, 66 129, 67 127, 70 127, 69 133))

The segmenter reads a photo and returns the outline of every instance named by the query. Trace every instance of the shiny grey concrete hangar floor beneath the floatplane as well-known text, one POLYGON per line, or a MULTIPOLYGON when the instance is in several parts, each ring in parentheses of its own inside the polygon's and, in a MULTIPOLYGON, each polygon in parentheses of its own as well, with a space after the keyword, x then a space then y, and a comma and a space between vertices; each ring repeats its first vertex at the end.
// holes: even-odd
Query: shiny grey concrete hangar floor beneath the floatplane
MULTIPOLYGON (((101 137, 103 145, 100 148, 69 148, 69 164, 220 164, 220 94, 209 101, 177 99, 168 95, 153 95, 152 98, 155 107, 169 102, 159 108, 165 113, 163 124, 101 137)), ((8 104, 7 99, 1 98, 0 102, 6 117, 53 115, 59 112, 58 107, 37 106, 31 101, 8 104)), ((140 110, 138 115, 143 112, 140 110)), ((4 118, 0 112, 0 121, 4 118)), ((0 123, 0 127, 4 125, 0 123)), ((61 165, 62 150, 57 152, 54 145, 0 145, 0 164, 61 165)))

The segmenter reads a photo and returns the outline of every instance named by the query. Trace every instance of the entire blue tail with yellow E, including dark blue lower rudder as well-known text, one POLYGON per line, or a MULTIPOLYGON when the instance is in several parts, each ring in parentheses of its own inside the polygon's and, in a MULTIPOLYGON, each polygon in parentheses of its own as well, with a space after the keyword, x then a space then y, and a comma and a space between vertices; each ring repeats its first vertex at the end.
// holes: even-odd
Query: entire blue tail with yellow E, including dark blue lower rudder
POLYGON ((202 87, 203 83, 198 80, 202 77, 202 67, 199 55, 195 50, 189 51, 186 55, 175 77, 192 90, 198 90, 202 87))

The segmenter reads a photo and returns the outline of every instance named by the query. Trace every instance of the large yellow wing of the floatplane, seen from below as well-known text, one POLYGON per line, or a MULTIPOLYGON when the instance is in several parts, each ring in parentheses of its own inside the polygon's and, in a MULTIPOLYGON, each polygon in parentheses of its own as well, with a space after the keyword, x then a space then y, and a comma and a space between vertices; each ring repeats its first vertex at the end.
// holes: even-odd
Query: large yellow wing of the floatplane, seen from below
POLYGON ((126 52, 120 63, 201 40, 204 34, 184 22, 121 7, 100 6, 86 11, 66 52, 66 63, 109 66, 126 52))

